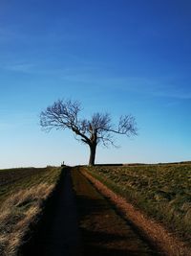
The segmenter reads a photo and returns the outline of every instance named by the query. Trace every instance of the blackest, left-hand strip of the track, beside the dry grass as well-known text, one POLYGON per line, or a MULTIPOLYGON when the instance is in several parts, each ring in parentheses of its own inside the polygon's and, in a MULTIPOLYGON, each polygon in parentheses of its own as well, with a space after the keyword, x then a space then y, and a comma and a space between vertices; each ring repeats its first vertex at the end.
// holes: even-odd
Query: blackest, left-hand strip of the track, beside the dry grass
POLYGON ((65 171, 53 202, 46 209, 24 256, 80 256, 76 203, 70 169, 65 171))

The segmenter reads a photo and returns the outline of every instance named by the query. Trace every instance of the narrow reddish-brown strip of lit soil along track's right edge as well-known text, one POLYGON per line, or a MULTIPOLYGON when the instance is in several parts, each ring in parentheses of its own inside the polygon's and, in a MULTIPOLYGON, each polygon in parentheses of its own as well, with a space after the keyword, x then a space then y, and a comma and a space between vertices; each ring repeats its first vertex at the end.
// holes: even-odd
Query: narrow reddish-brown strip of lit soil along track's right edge
POLYGON ((191 251, 186 245, 180 242, 173 234, 170 234, 162 225, 156 221, 149 220, 143 213, 138 211, 131 203, 128 203, 124 198, 117 196, 113 191, 99 182, 95 177, 86 172, 83 172, 95 186, 96 189, 109 198, 116 205, 117 209, 123 216, 138 227, 140 232, 152 244, 156 244, 165 255, 170 256, 189 256, 191 251))

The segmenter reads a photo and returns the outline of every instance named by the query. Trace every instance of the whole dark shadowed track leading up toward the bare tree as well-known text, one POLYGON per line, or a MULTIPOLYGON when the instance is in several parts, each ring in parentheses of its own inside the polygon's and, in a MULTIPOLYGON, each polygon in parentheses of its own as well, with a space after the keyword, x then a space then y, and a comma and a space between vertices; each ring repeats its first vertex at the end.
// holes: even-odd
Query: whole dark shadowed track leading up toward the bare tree
POLYGON ((75 198, 71 171, 65 172, 53 209, 24 256, 161 255, 117 215, 87 178, 72 169, 73 180, 77 174, 75 198))

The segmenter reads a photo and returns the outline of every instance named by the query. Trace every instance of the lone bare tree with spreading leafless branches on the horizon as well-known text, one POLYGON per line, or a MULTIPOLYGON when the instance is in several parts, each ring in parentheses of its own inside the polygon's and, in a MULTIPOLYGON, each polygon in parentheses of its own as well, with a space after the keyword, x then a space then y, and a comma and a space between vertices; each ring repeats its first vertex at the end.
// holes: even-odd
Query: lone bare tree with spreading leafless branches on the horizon
POLYGON ((108 147, 114 144, 114 134, 137 135, 135 118, 132 115, 121 116, 118 125, 114 126, 108 113, 95 113, 90 120, 80 119, 81 105, 77 101, 58 100, 42 111, 40 126, 50 131, 52 128, 69 128, 75 138, 90 148, 89 165, 95 165, 96 146, 108 147))

